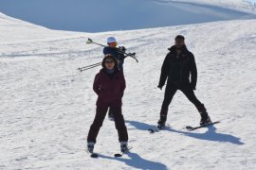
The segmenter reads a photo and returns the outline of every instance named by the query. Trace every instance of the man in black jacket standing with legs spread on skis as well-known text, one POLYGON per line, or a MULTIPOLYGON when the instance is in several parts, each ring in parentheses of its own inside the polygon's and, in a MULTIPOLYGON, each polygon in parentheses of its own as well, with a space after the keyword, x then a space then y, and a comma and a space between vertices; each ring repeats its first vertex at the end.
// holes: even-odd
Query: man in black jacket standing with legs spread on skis
POLYGON ((204 104, 193 93, 196 87, 197 69, 193 54, 186 47, 185 38, 182 35, 177 35, 175 37, 175 44, 169 50, 170 52, 162 64, 160 80, 157 86, 157 88, 162 90, 168 77, 157 127, 165 127, 168 108, 177 90, 184 93, 199 111, 201 115, 200 125, 210 124, 210 116, 204 104))

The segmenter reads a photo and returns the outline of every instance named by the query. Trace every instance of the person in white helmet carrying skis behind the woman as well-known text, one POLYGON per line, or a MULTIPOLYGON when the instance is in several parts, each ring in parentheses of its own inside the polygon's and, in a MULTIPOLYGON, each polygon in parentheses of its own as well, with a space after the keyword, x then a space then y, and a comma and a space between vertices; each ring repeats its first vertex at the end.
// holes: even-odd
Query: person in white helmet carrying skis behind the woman
MULTIPOLYGON (((107 44, 108 46, 104 47, 103 49, 103 54, 104 55, 108 55, 111 54, 115 59, 118 60, 118 67, 119 69, 123 72, 123 63, 124 63, 124 54, 126 51, 126 48, 124 46, 121 47, 117 47, 118 46, 118 42, 115 39, 115 37, 109 37, 107 39, 107 44)), ((108 110, 108 118, 110 120, 114 119, 113 113, 112 113, 112 108, 109 108, 108 110)))

